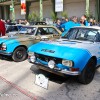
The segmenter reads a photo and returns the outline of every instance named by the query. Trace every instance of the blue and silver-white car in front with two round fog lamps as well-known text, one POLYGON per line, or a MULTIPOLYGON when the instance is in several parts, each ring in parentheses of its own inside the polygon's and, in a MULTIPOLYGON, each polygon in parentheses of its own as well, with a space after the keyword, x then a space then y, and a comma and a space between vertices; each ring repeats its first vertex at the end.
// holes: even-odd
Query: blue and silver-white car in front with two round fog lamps
POLYGON ((78 76, 89 84, 100 65, 100 27, 74 27, 55 41, 41 41, 28 49, 29 62, 42 70, 78 76))

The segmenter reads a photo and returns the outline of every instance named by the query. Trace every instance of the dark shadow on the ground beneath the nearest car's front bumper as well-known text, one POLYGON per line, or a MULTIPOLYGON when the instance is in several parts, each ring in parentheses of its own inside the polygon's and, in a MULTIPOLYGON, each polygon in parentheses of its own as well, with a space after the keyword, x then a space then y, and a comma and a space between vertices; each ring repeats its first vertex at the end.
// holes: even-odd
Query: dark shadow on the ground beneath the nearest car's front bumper
POLYGON ((60 76, 60 75, 56 75, 41 69, 38 69, 36 66, 32 65, 30 70, 32 71, 33 74, 43 74, 45 75, 50 81, 53 81, 55 83, 58 84, 62 84, 62 83, 76 83, 77 82, 77 77, 74 76, 68 76, 68 75, 64 75, 64 76, 60 76))

